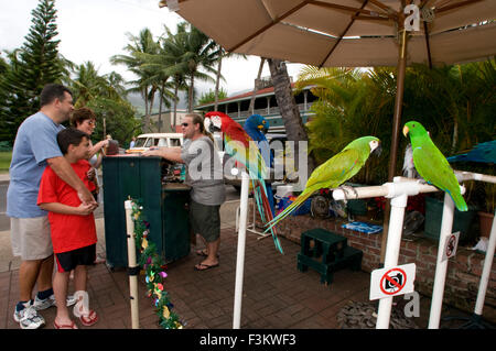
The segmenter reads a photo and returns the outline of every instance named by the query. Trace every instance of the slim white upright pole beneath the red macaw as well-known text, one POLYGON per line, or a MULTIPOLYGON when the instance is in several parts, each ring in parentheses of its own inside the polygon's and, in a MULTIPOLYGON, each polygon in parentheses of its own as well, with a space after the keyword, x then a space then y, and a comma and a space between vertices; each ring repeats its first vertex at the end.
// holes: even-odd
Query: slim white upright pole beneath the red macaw
POLYGON ((249 177, 245 172, 242 172, 233 329, 239 329, 241 325, 242 277, 245 273, 246 223, 248 215, 248 186, 249 177))

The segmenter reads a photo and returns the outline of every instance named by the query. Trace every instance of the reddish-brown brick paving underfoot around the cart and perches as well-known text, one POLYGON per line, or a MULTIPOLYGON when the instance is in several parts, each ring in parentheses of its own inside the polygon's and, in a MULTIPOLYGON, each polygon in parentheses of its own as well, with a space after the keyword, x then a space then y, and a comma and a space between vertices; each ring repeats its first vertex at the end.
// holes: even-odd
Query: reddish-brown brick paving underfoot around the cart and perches
MULTIPOLYGON (((100 237, 99 237, 100 238, 100 237)), ((281 239, 284 255, 272 239, 257 240, 247 233, 241 328, 244 329, 334 329, 336 315, 348 301, 368 301, 370 275, 339 271, 330 286, 320 284, 320 275, 296 270, 300 246, 281 239)), ((101 244, 101 243, 100 243, 101 244)), ((101 250, 104 246, 99 248, 101 250)), ((193 267, 202 257, 192 246, 190 255, 169 264, 165 289, 174 311, 188 329, 230 329, 233 327, 237 234, 223 226, 218 267, 197 272, 193 267)), ((12 265, 12 264, 11 264, 12 265)), ((17 298, 19 270, 0 273, 0 329, 19 329, 12 312, 17 298)), ((140 327, 158 329, 158 316, 151 298, 145 297, 144 276, 139 277, 140 327)), ((73 292, 69 286, 69 292, 73 292)), ((89 270, 90 306, 99 314, 93 329, 130 329, 129 281, 123 268, 110 271, 105 264, 89 270)), ((425 328, 430 299, 421 298, 420 317, 414 322, 425 328)), ((448 307, 446 307, 448 308, 448 307)), ((42 311, 46 329, 53 328, 55 308, 42 311)), ((450 311, 445 309, 442 316, 450 311)), ((454 312, 455 315, 457 311, 454 312)), ((80 326, 80 328, 86 328, 80 326)))

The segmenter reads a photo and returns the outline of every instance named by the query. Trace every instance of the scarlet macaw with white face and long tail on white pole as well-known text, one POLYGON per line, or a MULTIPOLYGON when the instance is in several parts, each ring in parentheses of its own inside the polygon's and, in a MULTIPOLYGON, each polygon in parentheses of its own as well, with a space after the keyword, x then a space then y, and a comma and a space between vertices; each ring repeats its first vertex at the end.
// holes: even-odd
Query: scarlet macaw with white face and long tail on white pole
MULTIPOLYGON (((258 211, 260 212, 262 221, 265 223, 270 221, 273 216, 267 198, 265 183, 265 179, 267 178, 267 167, 256 143, 239 123, 235 122, 229 116, 223 112, 213 111, 206 113, 205 128, 209 132, 214 132, 215 130, 220 130, 223 132, 226 152, 246 167, 251 178, 258 211)), ((271 233, 276 248, 280 253, 283 253, 276 230, 271 230, 271 233)))

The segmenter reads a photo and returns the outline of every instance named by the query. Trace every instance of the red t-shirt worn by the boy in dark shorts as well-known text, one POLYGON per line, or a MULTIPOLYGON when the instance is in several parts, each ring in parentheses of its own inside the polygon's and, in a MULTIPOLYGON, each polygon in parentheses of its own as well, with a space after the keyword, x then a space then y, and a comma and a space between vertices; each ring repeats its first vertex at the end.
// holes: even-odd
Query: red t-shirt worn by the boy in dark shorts
MULTIPOLYGON (((91 167, 89 163, 86 160, 79 160, 72 163, 71 166, 86 187, 93 191, 95 184, 86 176, 91 167)), ((60 202, 73 207, 78 207, 82 204, 77 191, 62 180, 50 166, 43 173, 40 193, 37 194, 37 205, 43 202, 60 202)), ((48 221, 53 252, 55 253, 73 251, 97 242, 93 213, 78 216, 48 212, 48 221)))

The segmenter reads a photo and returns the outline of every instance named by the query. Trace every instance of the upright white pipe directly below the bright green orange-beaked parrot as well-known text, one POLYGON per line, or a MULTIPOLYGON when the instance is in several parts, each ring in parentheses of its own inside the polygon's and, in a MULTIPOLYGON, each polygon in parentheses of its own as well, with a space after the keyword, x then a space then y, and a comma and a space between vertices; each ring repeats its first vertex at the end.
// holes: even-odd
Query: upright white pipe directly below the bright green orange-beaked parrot
POLYGON ((435 264, 434 287, 432 288, 431 314, 429 329, 439 329, 441 309, 443 307, 444 284, 449 260, 443 261, 443 252, 453 229, 454 202, 448 193, 444 193, 443 219, 439 234, 438 261, 435 264))

